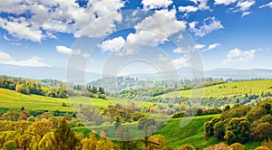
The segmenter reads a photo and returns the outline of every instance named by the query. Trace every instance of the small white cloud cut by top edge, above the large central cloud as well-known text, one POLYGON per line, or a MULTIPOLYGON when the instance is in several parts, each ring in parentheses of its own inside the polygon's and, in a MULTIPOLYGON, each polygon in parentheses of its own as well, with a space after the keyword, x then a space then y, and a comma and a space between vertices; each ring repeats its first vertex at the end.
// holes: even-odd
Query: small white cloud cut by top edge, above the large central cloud
POLYGON ((168 8, 172 0, 142 0, 143 9, 168 8))

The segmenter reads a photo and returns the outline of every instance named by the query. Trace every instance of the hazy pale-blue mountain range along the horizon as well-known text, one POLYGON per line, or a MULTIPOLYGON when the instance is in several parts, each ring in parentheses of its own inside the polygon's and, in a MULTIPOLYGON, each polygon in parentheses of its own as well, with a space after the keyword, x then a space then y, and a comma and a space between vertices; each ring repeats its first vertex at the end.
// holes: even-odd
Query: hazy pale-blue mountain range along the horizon
MULTIPOLYGON (((162 74, 167 76, 175 76, 177 73, 180 79, 192 78, 191 72, 198 72, 190 70, 189 68, 180 68, 180 70, 163 72, 162 74)), ((74 71, 82 72, 80 70, 74 71)), ((53 79, 53 80, 65 80, 66 69, 61 67, 23 67, 15 65, 0 64, 0 74, 7 76, 23 77, 29 79, 53 79)), ((252 69, 252 70, 238 70, 219 68, 215 70, 207 70, 204 72, 206 78, 222 78, 222 79, 233 79, 233 80, 250 80, 250 79, 272 79, 272 70, 268 69, 252 69)), ((109 76, 109 75, 107 75, 109 76)), ((147 73, 147 74, 130 74, 127 75, 132 78, 138 78, 139 80, 160 80, 161 73, 147 73)), ((99 73, 86 72, 86 81, 101 79, 102 75, 99 73)))

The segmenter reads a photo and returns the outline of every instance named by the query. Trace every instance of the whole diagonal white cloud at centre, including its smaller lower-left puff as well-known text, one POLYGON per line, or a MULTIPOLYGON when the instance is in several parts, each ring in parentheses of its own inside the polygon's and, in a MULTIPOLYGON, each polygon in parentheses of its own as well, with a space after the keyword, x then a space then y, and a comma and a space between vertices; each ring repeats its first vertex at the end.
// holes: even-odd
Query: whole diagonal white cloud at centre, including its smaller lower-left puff
POLYGON ((186 29, 186 22, 176 19, 176 10, 160 10, 147 16, 134 26, 135 33, 130 33, 127 40, 122 37, 102 42, 103 51, 115 52, 117 55, 129 55, 139 51, 142 45, 157 46, 168 41, 170 35, 186 29), (167 26, 166 26, 167 25, 167 26))

